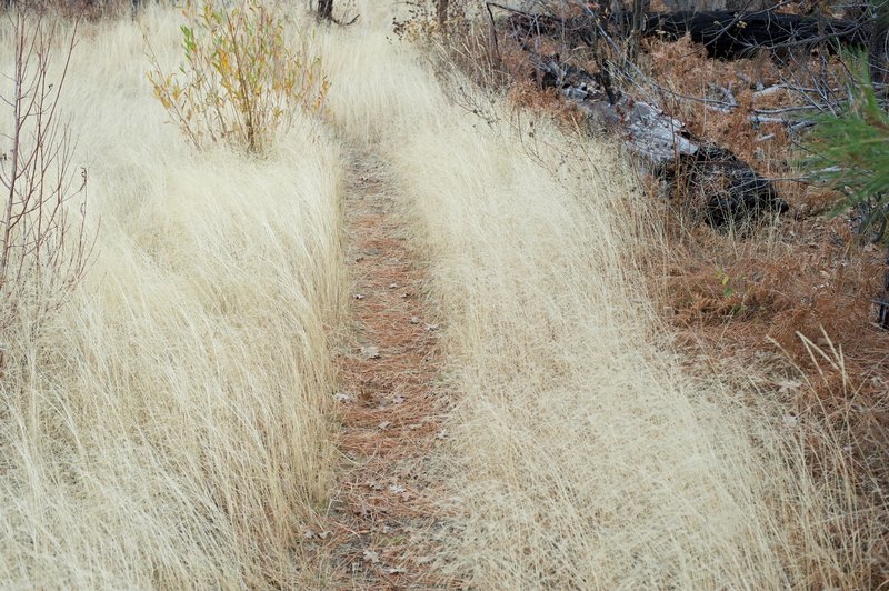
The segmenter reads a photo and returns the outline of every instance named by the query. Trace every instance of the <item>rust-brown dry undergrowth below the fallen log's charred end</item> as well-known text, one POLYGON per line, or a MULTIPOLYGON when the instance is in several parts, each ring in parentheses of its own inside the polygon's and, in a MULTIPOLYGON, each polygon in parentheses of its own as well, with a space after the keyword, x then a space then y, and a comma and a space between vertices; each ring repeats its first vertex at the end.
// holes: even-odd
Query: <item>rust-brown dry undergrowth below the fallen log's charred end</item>
POLYGON ((882 261, 881 249, 855 243, 849 226, 788 219, 745 240, 673 228, 651 277, 660 278, 663 315, 690 363, 753 384, 781 403, 789 424, 828 433, 806 437, 815 473, 826 453, 842 450, 861 501, 853 519, 883 524, 871 531, 878 538, 860 540, 872 561, 861 568, 878 585, 889 572, 887 335, 871 304, 882 261))

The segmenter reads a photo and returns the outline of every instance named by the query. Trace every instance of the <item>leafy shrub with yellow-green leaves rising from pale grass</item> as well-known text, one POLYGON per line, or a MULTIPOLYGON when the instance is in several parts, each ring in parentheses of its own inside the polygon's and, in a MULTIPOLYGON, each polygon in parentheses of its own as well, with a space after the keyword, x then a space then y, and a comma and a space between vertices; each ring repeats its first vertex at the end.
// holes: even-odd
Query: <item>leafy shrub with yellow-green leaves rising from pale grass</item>
POLYGON ((184 63, 163 73, 152 53, 148 78, 197 148, 226 141, 259 153, 296 109, 321 108, 328 82, 320 60, 290 47, 283 18, 261 0, 234 8, 188 0, 182 14, 184 63))

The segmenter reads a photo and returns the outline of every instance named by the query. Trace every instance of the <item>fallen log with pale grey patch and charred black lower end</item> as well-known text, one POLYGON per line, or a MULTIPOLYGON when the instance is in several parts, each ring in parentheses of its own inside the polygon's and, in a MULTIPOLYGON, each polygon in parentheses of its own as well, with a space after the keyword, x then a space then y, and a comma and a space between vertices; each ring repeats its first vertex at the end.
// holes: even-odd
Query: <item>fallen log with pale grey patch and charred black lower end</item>
POLYGON ((593 130, 618 133, 630 151, 651 164, 671 187, 703 204, 715 227, 741 224, 787 211, 773 183, 730 150, 703 142, 656 106, 601 88, 600 74, 562 63, 558 56, 530 53, 545 87, 557 88, 589 117, 593 130))

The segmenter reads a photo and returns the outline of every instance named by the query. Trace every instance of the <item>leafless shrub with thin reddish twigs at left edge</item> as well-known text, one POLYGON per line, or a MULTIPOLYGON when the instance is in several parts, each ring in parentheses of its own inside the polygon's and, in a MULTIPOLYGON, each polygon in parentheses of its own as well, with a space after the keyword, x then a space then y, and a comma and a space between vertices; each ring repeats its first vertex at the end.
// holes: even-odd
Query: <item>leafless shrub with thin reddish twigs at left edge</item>
POLYGON ((14 71, 11 94, 3 97, 12 111, 12 132, 9 154, 0 159, 0 328, 23 307, 40 314, 58 304, 82 276, 92 249, 83 217, 87 173, 71 171, 73 142, 60 109, 77 22, 54 71, 58 21, 19 7, 8 18, 14 71), (76 213, 74 200, 80 201, 76 213))

